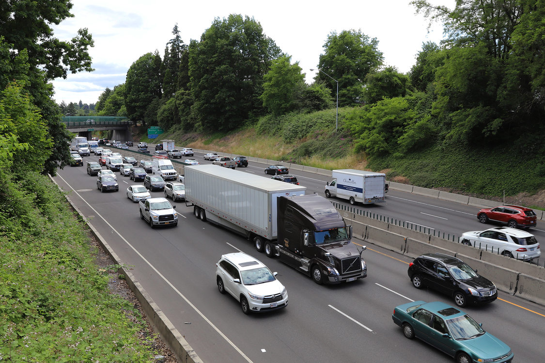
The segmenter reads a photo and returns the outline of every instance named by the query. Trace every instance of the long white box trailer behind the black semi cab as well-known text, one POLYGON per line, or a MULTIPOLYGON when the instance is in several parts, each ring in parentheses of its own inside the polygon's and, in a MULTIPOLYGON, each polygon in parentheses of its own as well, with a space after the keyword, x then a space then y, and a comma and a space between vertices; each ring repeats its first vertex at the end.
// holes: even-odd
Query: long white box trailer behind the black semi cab
POLYGON ((306 187, 217 165, 187 165, 186 205, 197 218, 253 239, 276 239, 277 197, 305 195, 306 187))

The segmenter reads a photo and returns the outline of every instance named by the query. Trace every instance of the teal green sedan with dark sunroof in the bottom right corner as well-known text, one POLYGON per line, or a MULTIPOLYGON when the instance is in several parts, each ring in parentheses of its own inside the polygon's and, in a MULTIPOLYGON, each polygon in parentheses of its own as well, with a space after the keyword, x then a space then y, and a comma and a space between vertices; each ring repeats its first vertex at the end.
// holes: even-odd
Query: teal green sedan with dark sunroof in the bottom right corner
POLYGON ((457 363, 511 363, 513 352, 469 315, 445 303, 423 301, 396 306, 393 322, 408 339, 417 337, 453 356, 457 363))

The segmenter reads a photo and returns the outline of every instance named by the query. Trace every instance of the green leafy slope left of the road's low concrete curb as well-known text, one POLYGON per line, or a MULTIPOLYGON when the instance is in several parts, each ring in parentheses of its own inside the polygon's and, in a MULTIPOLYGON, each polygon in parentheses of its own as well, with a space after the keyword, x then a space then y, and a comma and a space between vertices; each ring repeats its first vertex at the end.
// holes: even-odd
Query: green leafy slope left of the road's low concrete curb
POLYGON ((108 292, 86 225, 49 178, 0 170, 0 360, 149 362, 134 306, 108 292))

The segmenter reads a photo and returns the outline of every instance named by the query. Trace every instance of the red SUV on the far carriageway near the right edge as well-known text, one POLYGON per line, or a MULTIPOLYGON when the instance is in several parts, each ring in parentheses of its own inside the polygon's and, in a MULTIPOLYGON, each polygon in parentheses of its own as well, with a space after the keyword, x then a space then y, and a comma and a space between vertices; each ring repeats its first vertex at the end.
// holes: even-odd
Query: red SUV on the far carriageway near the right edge
POLYGON ((529 228, 536 226, 536 213, 530 208, 505 205, 495 208, 485 208, 477 213, 477 219, 481 223, 487 223, 489 220, 506 224, 511 228, 529 228))

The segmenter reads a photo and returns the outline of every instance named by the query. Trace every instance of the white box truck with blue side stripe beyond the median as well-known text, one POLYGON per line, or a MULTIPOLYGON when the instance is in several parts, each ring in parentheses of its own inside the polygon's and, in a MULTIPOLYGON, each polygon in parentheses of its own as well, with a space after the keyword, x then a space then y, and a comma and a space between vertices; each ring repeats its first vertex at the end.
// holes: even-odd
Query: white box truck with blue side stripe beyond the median
POLYGON ((326 198, 336 196, 348 199, 351 205, 356 203, 373 204, 385 202, 388 190, 386 174, 373 171, 339 169, 332 170, 333 180, 325 186, 326 198))

